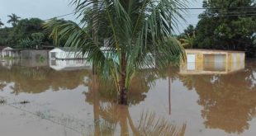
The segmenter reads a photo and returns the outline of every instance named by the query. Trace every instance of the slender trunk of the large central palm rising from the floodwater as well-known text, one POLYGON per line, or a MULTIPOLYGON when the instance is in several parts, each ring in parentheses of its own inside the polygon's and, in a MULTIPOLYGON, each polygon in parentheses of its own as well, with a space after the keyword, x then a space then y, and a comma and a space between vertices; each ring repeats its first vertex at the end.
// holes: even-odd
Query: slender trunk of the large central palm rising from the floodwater
POLYGON ((121 75, 119 82, 119 104, 127 105, 127 88, 126 88, 126 53, 121 53, 121 75))

